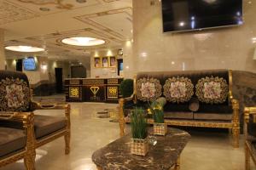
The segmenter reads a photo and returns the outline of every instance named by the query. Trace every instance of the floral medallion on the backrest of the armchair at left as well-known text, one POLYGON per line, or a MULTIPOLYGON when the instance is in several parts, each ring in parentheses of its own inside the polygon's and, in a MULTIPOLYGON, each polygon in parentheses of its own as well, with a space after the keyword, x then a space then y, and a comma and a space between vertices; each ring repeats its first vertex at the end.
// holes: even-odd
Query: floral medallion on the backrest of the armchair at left
POLYGON ((30 90, 24 80, 6 78, 0 81, 0 111, 27 111, 30 90))

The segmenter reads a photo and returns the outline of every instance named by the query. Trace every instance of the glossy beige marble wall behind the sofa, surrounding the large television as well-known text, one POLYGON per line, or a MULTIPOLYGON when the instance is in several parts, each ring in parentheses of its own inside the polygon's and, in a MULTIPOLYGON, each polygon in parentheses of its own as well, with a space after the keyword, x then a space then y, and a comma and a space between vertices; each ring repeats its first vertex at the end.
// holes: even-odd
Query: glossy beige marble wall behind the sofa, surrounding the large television
MULTIPOLYGON (((137 71, 234 69, 256 72, 256 3, 244 1, 244 25, 163 33, 159 1, 133 0, 133 52, 125 75, 137 71)), ((125 59, 125 57, 124 57, 125 59)), ((127 63, 125 63, 126 65, 127 63)))

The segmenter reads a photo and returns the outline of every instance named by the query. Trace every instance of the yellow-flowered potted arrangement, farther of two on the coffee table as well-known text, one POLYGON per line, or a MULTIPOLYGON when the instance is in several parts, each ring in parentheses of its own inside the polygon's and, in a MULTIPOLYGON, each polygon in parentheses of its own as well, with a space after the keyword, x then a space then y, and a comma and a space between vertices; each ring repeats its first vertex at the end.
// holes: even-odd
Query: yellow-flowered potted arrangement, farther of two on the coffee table
POLYGON ((148 105, 148 114, 154 119, 154 134, 166 135, 167 124, 164 118, 164 105, 166 105, 166 98, 159 98, 148 105))

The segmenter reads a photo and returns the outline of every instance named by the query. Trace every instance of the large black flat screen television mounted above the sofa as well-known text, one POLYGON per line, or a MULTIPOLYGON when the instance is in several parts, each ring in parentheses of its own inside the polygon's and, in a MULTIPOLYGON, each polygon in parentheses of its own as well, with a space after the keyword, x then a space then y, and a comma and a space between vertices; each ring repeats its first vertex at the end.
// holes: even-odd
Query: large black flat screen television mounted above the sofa
POLYGON ((239 26, 242 0, 162 0, 163 31, 239 26))

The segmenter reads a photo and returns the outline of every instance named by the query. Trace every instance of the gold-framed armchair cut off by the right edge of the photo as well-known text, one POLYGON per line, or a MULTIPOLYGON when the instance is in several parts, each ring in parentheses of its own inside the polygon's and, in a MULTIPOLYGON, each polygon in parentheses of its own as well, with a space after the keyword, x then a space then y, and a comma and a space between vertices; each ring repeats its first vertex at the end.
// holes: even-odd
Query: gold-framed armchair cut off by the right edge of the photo
POLYGON ((245 169, 250 169, 250 158, 256 166, 256 107, 244 109, 245 169))

